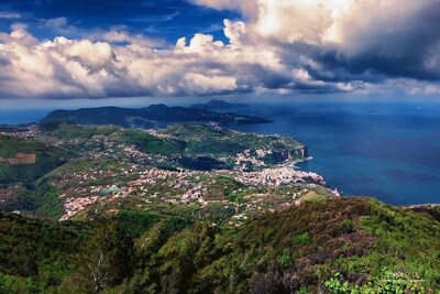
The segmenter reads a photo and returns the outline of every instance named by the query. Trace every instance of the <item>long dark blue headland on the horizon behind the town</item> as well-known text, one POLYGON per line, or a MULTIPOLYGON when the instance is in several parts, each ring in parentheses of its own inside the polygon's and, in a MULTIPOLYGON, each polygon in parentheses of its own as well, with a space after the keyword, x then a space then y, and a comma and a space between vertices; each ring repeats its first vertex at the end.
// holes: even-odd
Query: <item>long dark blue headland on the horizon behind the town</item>
POLYGON ((81 108, 78 110, 55 110, 48 113, 40 122, 116 124, 123 128, 151 129, 179 122, 233 126, 266 123, 271 121, 264 118, 241 116, 235 113, 218 113, 205 109, 152 105, 150 107, 139 109, 100 107, 81 108))

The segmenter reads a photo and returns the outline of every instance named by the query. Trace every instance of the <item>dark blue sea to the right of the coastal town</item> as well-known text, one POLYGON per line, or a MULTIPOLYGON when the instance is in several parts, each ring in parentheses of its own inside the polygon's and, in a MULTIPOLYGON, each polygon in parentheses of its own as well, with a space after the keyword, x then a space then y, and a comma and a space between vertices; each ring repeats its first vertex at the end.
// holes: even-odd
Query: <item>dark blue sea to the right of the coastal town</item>
POLYGON ((292 102, 237 112, 274 120, 237 130, 290 135, 308 145, 314 160, 298 165, 344 195, 393 205, 440 203, 440 104, 292 102))

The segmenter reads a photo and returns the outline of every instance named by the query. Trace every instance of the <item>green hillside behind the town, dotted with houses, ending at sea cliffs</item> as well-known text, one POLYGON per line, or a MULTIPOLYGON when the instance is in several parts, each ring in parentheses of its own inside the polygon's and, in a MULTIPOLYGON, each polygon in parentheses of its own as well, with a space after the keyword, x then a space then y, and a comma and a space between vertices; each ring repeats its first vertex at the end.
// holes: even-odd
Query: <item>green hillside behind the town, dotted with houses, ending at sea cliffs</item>
MULTIPOLYGON (((257 157, 263 164, 276 165, 285 161, 304 160, 307 148, 293 138, 235 132, 197 123, 176 123, 152 135, 142 130, 114 126, 80 126, 65 122, 43 123, 36 139, 87 154, 113 153, 120 156, 121 145, 134 146, 148 154, 167 156, 161 166, 189 170, 232 168, 235 155, 257 157), (257 154, 261 152, 261 154, 257 154)), ((248 168, 255 168, 248 163, 248 168)))

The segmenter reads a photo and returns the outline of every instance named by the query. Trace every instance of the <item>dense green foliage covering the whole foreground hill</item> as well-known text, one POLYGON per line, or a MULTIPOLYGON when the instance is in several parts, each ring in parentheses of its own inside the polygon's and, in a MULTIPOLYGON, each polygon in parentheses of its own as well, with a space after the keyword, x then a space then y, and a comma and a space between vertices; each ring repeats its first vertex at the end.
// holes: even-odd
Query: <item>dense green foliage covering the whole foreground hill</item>
POLYGON ((61 224, 1 214, 0 225, 1 293, 440 290, 439 221, 370 198, 305 203, 240 228, 134 211, 61 224))

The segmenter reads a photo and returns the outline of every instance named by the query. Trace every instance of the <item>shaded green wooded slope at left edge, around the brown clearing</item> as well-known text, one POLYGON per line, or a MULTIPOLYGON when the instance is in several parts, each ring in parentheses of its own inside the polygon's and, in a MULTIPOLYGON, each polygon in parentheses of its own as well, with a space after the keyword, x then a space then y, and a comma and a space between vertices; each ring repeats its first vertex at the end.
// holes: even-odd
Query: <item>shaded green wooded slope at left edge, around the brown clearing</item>
POLYGON ((35 154, 28 164, 0 163, 0 210, 32 211, 36 216, 59 218, 63 203, 57 190, 41 178, 75 156, 67 150, 32 140, 0 135, 1 154, 14 157, 16 153, 35 154))

